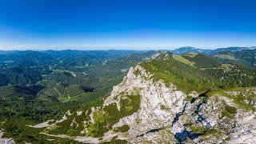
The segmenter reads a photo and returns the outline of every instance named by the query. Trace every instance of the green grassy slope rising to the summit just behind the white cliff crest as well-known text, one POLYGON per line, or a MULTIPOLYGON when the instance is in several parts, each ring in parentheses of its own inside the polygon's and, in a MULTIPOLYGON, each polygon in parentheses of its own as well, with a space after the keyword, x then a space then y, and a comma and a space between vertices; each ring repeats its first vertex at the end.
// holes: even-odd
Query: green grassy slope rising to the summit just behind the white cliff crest
POLYGON ((175 60, 170 53, 162 53, 150 62, 142 62, 141 66, 153 74, 155 80, 162 79, 167 85, 173 83, 178 89, 186 92, 203 91, 218 84, 218 81, 205 71, 175 60))

